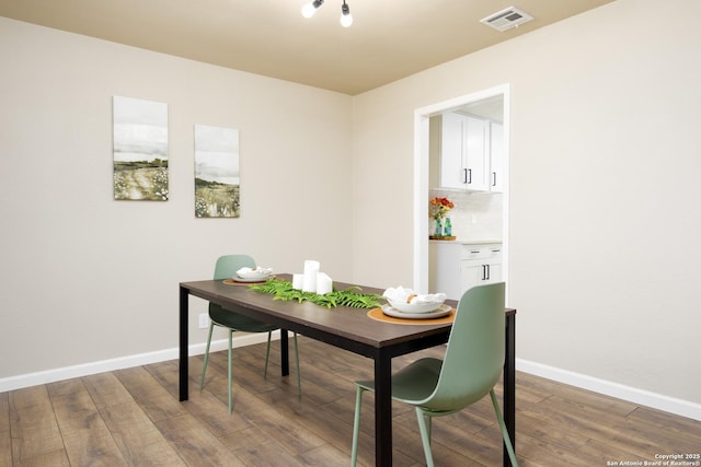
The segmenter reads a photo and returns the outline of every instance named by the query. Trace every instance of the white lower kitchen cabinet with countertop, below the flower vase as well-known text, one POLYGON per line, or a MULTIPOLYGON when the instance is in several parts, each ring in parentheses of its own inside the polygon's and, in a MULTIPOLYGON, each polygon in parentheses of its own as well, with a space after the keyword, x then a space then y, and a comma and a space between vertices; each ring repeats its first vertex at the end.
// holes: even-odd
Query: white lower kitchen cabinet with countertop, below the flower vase
POLYGON ((460 300, 474 285, 502 280, 502 244, 434 241, 429 245, 429 292, 460 300))

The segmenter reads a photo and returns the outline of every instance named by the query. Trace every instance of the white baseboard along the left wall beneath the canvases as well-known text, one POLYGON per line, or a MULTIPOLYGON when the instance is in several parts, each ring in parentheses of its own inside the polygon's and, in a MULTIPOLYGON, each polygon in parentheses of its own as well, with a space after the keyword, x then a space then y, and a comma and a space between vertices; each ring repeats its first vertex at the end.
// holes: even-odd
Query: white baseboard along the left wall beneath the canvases
MULTIPOLYGON (((273 331, 273 339, 279 339, 279 330, 273 331)), ((267 341, 267 332, 246 334, 234 337, 233 347, 245 347, 253 343, 267 341)), ((229 339, 212 340, 209 350, 226 350, 229 339)), ((189 355, 205 353, 206 342, 188 346, 189 355)), ((139 353, 136 355, 120 357, 116 359, 102 360, 99 362, 84 363, 81 365, 66 366, 62 369, 46 370, 36 373, 27 373, 18 376, 0 378, 0 393, 7 390, 21 389, 23 387, 36 386, 39 384, 54 383, 56 381, 70 380, 73 377, 88 376, 95 373, 110 372, 114 370, 128 369, 133 366, 147 365, 150 363, 164 362, 179 358, 177 348, 158 350, 156 352, 139 353)))

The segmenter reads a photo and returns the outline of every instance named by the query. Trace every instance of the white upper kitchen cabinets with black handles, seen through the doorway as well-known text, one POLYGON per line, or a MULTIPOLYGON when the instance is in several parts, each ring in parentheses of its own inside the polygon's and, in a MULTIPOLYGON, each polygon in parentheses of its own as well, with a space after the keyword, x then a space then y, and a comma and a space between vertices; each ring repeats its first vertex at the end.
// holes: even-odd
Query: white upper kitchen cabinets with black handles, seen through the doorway
POLYGON ((504 131, 499 125, 495 131, 499 131, 501 137, 495 141, 491 125, 497 124, 452 112, 443 114, 440 187, 489 191, 496 180, 493 190, 503 189, 498 170, 494 173, 491 170, 491 148, 494 145, 503 154, 504 131))

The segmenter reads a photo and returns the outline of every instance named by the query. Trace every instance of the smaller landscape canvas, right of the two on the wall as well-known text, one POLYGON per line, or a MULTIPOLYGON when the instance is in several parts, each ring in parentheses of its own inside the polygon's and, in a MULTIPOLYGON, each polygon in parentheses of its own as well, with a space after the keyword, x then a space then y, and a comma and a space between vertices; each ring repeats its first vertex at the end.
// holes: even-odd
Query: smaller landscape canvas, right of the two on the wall
POLYGON ((195 217, 241 213, 239 130, 195 125, 195 217))

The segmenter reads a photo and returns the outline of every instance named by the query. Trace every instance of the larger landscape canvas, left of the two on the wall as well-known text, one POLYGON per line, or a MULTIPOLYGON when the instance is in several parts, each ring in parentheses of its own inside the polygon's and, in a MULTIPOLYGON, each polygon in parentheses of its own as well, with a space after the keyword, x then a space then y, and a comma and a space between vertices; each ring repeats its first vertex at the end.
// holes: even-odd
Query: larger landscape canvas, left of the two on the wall
POLYGON ((168 201, 168 104, 113 97, 114 199, 168 201))

